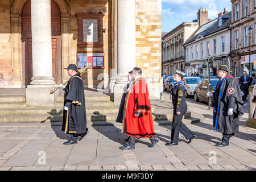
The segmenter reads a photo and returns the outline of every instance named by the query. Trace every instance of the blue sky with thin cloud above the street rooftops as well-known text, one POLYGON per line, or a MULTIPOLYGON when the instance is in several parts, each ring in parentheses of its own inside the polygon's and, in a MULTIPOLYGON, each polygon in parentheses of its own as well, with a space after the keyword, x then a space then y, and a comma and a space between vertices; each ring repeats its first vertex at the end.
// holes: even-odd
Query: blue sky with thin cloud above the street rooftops
POLYGON ((215 19, 225 7, 231 11, 232 3, 230 0, 162 0, 162 32, 197 19, 200 7, 208 10, 208 18, 215 19))

